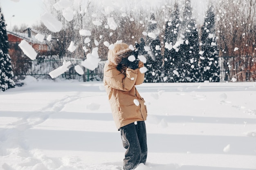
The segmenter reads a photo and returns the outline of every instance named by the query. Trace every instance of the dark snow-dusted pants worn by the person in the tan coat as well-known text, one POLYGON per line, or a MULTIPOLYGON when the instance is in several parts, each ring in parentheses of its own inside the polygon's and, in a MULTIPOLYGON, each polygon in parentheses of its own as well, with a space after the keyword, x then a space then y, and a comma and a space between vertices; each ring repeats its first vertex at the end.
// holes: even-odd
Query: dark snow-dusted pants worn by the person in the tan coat
POLYGON ((133 170, 139 163, 145 164, 148 153, 145 122, 137 121, 137 124, 131 123, 119 130, 126 148, 123 169, 133 170))

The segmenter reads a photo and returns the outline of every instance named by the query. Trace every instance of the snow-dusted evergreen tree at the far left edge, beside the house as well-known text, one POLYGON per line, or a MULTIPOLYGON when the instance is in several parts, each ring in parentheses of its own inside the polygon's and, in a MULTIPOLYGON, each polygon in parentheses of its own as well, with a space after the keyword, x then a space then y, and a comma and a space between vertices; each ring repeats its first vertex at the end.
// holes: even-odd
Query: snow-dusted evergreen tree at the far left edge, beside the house
POLYGON ((4 22, 4 16, 0 8, 0 91, 13 88, 15 83, 12 80, 13 72, 11 57, 9 55, 9 44, 4 22))

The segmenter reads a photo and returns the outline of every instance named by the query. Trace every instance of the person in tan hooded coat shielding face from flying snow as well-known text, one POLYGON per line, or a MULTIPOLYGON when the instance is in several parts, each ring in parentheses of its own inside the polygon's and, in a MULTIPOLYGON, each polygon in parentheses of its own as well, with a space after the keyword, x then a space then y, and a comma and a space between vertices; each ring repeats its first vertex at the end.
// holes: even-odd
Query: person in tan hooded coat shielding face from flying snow
POLYGON ((128 44, 114 44, 108 51, 108 62, 104 66, 103 83, 108 93, 112 115, 121 132, 121 139, 126 148, 124 170, 132 170, 139 163, 146 163, 147 140, 144 120, 147 110, 144 99, 135 85, 142 84, 144 73, 139 68, 144 64, 135 60, 130 62, 132 54, 128 44))

